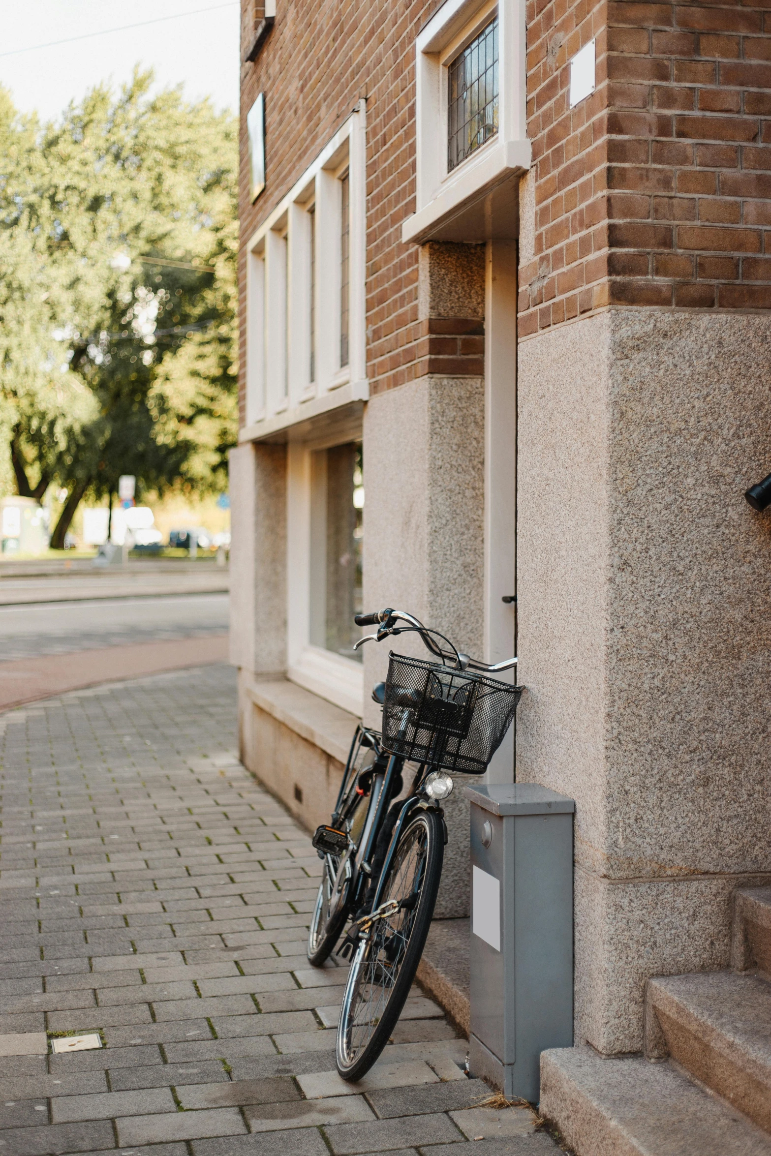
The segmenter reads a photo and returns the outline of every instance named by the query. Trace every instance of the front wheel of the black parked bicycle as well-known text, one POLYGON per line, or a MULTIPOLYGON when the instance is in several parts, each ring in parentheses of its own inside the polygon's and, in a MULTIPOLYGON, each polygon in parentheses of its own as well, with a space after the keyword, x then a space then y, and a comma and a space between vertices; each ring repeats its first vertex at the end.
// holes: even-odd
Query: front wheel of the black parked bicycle
POLYGON ((400 910, 372 924, 351 963, 338 1025, 343 1080, 369 1072, 401 1015, 431 925, 443 858, 442 817, 418 810, 399 837, 380 895, 380 903, 400 901, 400 910))

